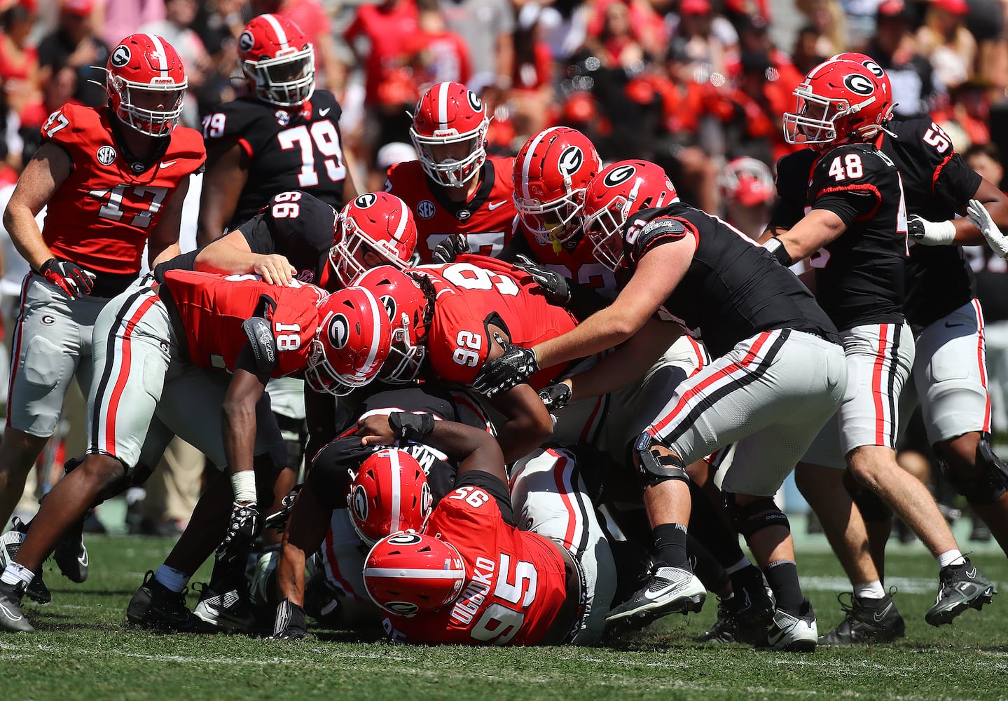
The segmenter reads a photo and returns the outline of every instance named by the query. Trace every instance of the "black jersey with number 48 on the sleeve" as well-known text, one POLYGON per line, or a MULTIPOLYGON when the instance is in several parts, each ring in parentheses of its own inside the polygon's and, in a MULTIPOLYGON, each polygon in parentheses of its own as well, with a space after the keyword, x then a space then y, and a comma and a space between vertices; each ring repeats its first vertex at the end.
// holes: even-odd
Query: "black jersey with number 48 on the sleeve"
POLYGON ((845 144, 817 155, 806 150, 780 159, 781 203, 770 226, 791 228, 813 209, 838 215, 847 230, 809 259, 823 309, 839 329, 903 323, 907 244, 899 170, 871 144, 845 144))

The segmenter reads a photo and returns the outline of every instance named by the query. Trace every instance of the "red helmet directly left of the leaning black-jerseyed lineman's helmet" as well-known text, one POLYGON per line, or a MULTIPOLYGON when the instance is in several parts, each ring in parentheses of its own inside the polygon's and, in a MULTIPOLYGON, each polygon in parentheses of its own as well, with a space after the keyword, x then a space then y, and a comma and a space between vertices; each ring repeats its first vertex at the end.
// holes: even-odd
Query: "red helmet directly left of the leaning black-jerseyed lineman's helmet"
POLYGON ((543 245, 581 233, 585 188, 602 169, 587 136, 565 126, 540 131, 514 161, 514 206, 521 223, 543 245))

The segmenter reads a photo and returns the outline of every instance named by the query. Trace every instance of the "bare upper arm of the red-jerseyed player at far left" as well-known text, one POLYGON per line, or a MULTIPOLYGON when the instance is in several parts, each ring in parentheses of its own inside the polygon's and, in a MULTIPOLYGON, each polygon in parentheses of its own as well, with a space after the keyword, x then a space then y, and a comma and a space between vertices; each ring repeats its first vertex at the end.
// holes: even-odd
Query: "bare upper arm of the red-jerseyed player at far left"
POLYGON ((67 151, 55 144, 43 143, 17 179, 17 187, 4 211, 4 227, 10 232, 14 247, 34 270, 52 257, 35 216, 67 180, 73 166, 67 151))

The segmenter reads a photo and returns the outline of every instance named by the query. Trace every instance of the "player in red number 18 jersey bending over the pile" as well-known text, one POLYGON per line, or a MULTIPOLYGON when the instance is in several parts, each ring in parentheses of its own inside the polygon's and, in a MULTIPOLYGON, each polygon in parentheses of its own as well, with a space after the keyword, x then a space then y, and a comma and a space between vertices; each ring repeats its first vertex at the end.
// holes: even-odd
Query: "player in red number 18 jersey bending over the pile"
MULTIPOLYGON (((172 551, 177 559, 144 581, 127 617, 145 627, 196 630, 181 595, 187 577, 215 543, 223 558, 237 557, 257 531, 256 404, 267 379, 303 373, 324 391, 338 381, 366 382, 388 352, 390 324, 365 289, 327 295, 313 285, 277 287, 258 277, 171 269, 159 285, 134 285, 110 302, 96 320, 95 337, 88 454, 48 493, 4 571, 0 627, 32 629, 19 611, 21 592, 62 532, 137 464, 155 464, 149 456, 159 452, 157 439, 163 449, 170 438, 148 432, 156 417, 159 429, 227 466, 230 485, 223 486, 233 491, 234 505, 230 518, 222 510, 197 522, 194 513, 172 551), (366 339, 355 338, 362 314, 372 322, 366 339), (361 351, 348 354, 349 347, 361 351)), ((217 480, 201 498, 226 508, 218 499, 221 485, 217 480)))

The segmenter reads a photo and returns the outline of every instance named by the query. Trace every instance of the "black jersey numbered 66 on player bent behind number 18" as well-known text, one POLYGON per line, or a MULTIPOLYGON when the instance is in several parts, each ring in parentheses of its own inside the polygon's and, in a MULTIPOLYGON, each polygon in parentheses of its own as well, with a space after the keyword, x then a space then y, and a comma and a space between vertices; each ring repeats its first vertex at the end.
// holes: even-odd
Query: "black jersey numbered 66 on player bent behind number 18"
POLYGON ((324 284, 329 277, 336 210, 300 191, 278 193, 238 230, 253 253, 279 253, 302 282, 324 284))

